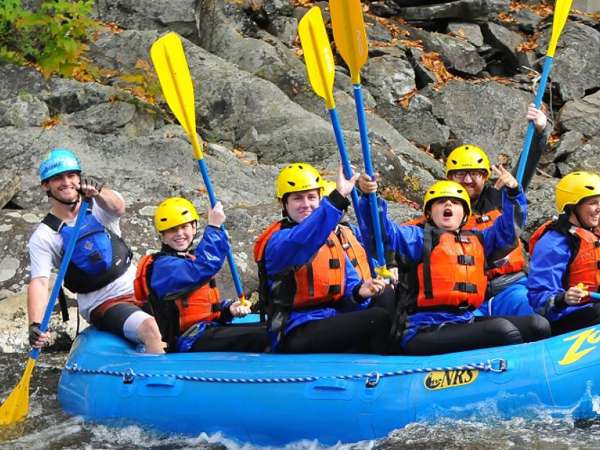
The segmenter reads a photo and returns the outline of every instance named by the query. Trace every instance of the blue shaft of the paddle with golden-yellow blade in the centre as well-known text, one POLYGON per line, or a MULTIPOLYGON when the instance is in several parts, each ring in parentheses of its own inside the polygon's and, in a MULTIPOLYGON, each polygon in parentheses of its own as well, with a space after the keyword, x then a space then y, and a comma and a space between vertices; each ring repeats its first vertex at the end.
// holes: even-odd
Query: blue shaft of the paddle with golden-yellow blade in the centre
MULTIPOLYGON (((369 131, 367 128, 367 116, 365 114, 365 108, 362 98, 362 86, 360 84, 354 84, 354 102, 356 104, 356 115, 358 117, 358 129, 360 131, 360 144, 362 147, 363 161, 365 164, 365 171, 372 180, 375 179, 375 172, 373 170, 373 163, 371 162, 371 148, 369 146, 369 131)), ((371 220, 373 221, 373 231, 375 234, 375 250, 377 253, 377 263, 379 267, 385 267, 385 257, 383 253, 383 238, 381 236, 381 223, 379 220, 379 211, 377 208, 377 196, 373 194, 368 195, 369 209, 371 211, 371 220)))

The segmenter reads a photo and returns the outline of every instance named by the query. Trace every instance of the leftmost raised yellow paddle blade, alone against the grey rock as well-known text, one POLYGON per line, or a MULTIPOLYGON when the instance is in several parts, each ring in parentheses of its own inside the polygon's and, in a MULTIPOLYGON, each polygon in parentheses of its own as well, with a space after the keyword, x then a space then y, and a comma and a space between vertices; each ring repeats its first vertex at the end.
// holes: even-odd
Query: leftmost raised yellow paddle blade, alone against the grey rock
POLYGON ((202 159, 197 144, 194 85, 181 39, 176 33, 165 34, 152 44, 150 57, 165 100, 192 140, 196 159, 202 159))

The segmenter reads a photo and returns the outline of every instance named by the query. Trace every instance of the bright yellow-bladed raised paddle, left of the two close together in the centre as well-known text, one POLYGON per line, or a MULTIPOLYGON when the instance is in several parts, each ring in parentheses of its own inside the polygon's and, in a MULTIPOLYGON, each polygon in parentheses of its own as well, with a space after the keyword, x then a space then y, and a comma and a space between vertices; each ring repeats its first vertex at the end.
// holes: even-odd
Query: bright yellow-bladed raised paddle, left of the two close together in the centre
MULTIPOLYGON (((321 8, 313 6, 300 20, 298 24, 298 35, 300 43, 304 51, 304 62, 308 73, 308 80, 313 88, 313 91, 325 100, 325 106, 329 112, 331 125, 335 134, 335 141, 340 151, 340 159, 342 160, 342 168, 344 176, 347 179, 352 178, 352 166, 348 158, 348 150, 344 142, 342 127, 335 108, 335 100, 333 98, 333 81, 335 78, 335 63, 333 62, 333 53, 331 45, 325 31, 321 8)), ((352 190, 352 206, 356 211, 356 217, 360 220, 358 214, 358 193, 356 189, 352 190)), ((369 263, 371 260, 369 259, 369 263)), ((371 267, 371 272, 373 268, 371 267)))

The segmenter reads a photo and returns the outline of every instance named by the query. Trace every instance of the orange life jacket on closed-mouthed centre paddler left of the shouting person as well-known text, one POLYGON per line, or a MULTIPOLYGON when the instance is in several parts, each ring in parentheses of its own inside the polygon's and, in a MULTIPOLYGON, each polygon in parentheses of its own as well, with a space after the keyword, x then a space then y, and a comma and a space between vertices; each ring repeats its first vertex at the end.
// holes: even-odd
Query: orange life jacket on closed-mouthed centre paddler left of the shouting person
MULTIPOLYGON (((256 240, 254 260, 259 266, 269 239, 281 229, 281 225, 281 221, 272 223, 256 240)), ((291 269, 294 272, 295 284, 292 309, 310 308, 342 299, 346 273, 344 255, 342 243, 335 233, 331 233, 327 242, 310 261, 291 269)))

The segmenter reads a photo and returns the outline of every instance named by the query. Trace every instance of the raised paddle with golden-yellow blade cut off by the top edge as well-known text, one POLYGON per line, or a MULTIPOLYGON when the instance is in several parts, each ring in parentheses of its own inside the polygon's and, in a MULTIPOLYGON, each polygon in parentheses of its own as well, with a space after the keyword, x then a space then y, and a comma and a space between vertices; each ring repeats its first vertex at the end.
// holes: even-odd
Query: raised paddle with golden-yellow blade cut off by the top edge
MULTIPOLYGON (((342 55, 342 58, 348 65, 352 77, 365 171, 371 179, 375 179, 375 171, 371 162, 371 148, 369 147, 367 117, 363 105, 362 86, 360 84, 360 69, 367 62, 369 56, 369 44, 367 42, 367 33, 365 31, 360 0, 329 0, 329 12, 331 13, 335 44, 340 55, 342 55)), ((375 272, 384 278, 391 278, 391 274, 385 264, 376 194, 369 194, 368 200, 375 234, 375 250, 378 264, 375 272)))

